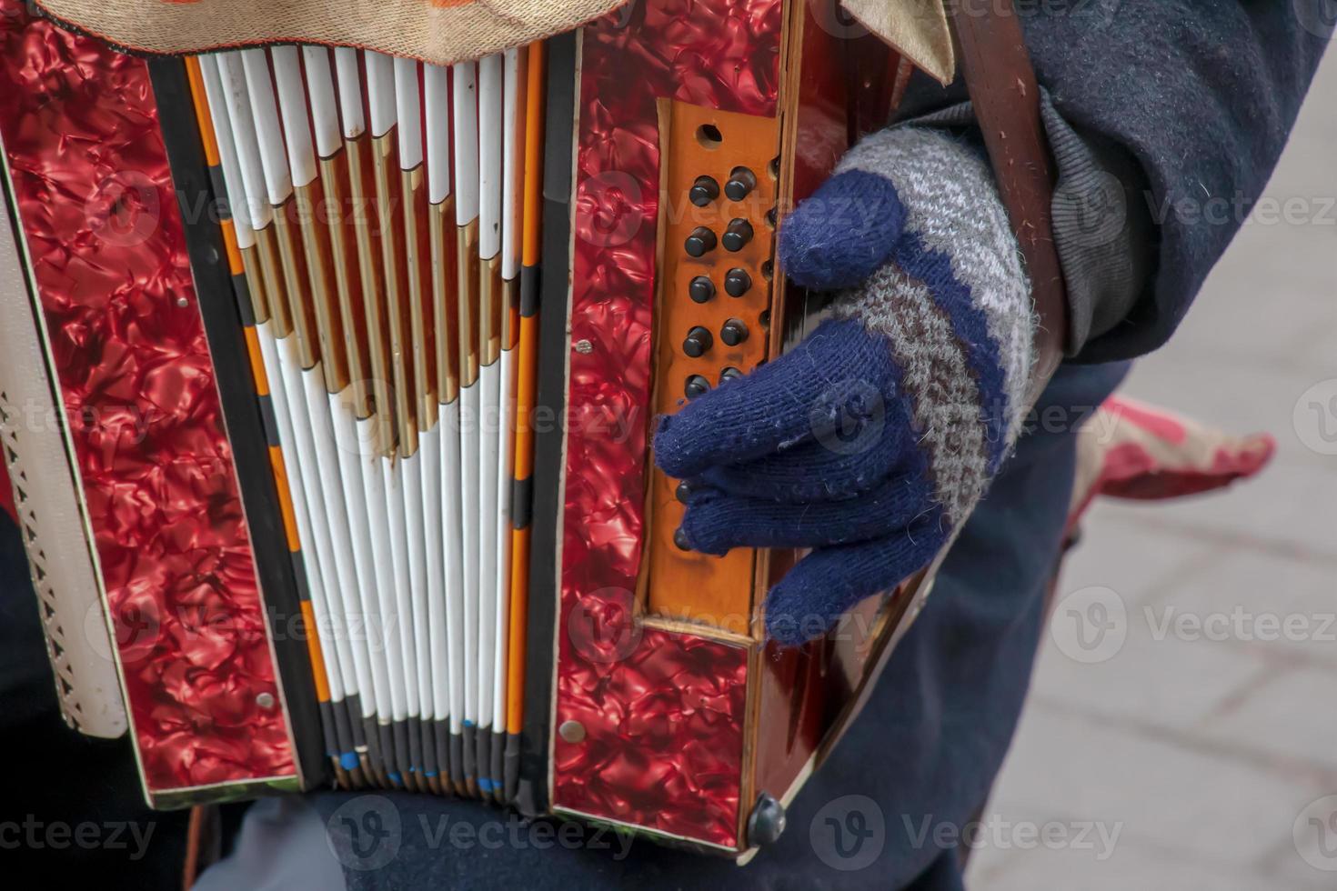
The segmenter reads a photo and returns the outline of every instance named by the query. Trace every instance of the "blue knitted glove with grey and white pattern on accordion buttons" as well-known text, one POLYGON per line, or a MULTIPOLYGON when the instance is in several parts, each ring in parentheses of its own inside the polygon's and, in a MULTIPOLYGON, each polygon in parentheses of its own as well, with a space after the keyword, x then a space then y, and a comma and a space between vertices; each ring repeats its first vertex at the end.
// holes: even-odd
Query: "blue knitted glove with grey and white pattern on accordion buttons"
POLYGON ((798 644, 927 565, 1019 433, 1029 283, 981 155, 932 130, 864 139, 786 219, 779 258, 833 318, 662 418, 682 546, 813 548, 766 598, 798 644))

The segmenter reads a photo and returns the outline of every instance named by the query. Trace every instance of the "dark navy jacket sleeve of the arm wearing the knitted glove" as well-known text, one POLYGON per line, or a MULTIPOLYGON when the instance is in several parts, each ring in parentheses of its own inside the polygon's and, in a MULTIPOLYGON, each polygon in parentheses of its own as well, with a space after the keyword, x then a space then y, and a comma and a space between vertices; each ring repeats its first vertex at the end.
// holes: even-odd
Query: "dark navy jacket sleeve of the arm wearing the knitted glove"
MULTIPOLYGON (((1130 247, 1147 251, 1143 281, 1108 327, 1100 326, 1106 330, 1090 331, 1075 358, 1108 362, 1148 353, 1178 326, 1266 186, 1333 37, 1332 3, 1016 5, 1054 108, 1103 147, 1106 167, 1128 187, 1122 212, 1136 223, 1132 231, 1146 232, 1144 244, 1130 247)), ((943 90, 916 77, 900 116, 963 98, 960 84, 943 90)), ((1102 318, 1108 310, 1087 306, 1075 314, 1102 318)))

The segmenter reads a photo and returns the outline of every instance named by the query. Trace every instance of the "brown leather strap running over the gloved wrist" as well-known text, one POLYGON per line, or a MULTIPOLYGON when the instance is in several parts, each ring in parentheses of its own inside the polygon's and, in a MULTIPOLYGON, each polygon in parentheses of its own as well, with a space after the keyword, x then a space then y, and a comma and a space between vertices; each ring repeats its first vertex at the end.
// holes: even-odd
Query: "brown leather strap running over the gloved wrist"
POLYGON ((1040 123, 1040 90, 1012 0, 949 5, 961 76, 1031 275, 1039 315, 1028 393, 1034 403, 1063 358, 1068 330, 1063 273, 1050 219, 1055 174, 1040 123))

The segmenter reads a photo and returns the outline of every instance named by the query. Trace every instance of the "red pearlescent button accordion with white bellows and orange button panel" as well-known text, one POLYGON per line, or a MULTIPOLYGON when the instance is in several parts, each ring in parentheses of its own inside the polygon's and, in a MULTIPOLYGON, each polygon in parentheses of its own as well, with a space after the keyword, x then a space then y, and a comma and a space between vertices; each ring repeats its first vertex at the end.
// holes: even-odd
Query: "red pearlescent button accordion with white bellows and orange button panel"
POLYGON ((730 856, 924 570, 767 644, 658 414, 820 295, 777 215, 912 65, 821 0, 643 0, 436 65, 123 55, 0 0, 0 434, 67 721, 172 808, 337 784, 730 856), (838 27, 837 27, 838 25, 838 27))

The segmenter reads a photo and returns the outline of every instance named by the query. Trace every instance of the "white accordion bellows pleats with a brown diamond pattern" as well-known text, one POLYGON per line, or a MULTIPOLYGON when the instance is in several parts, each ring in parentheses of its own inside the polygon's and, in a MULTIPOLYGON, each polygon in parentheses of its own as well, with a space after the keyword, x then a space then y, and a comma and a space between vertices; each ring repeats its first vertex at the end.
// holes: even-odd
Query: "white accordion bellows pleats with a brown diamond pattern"
POLYGON ((496 307, 520 270, 523 59, 444 68, 316 45, 198 59, 246 281, 297 322, 257 319, 255 342, 334 715, 328 749, 350 783, 501 787, 500 748, 483 737, 507 719, 519 362, 496 307), (290 202, 325 212, 294 216, 290 202), (406 330, 422 341, 401 342, 406 330), (449 375, 439 355, 457 363, 449 375), (412 418, 396 367, 427 373, 408 375, 429 386, 412 418), (368 373, 389 379, 356 379, 368 373))

